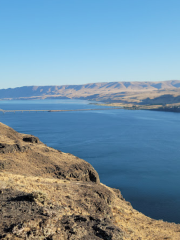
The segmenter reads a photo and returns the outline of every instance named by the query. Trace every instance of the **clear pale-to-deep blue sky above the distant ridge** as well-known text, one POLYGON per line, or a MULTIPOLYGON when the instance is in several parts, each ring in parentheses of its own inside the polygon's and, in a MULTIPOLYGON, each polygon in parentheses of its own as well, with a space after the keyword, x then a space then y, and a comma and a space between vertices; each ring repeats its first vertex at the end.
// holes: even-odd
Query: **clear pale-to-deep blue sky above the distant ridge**
POLYGON ((180 0, 0 0, 0 88, 180 80, 180 0))

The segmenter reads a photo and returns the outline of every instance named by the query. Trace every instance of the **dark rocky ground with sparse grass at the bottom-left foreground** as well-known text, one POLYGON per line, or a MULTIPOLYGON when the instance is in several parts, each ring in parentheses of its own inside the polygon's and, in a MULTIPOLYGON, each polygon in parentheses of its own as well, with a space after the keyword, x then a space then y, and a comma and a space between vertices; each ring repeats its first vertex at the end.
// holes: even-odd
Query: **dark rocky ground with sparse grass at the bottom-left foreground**
POLYGON ((126 236, 103 215, 67 215, 62 206, 50 202, 39 206, 30 194, 12 189, 0 194, 0 214, 0 239, 4 240, 123 240, 126 236))

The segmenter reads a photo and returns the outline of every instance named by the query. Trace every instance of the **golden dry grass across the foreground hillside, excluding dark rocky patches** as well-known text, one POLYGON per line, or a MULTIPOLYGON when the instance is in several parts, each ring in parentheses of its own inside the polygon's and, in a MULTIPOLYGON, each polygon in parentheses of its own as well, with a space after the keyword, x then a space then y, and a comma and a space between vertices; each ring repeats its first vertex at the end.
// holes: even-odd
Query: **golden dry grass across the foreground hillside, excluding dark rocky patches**
MULTIPOLYGON (((0 142, 24 144, 21 134, 0 124, 0 142)), ((27 144, 27 143, 26 143, 27 144)), ((64 215, 99 214, 106 217, 112 214, 113 223, 126 232, 124 239, 162 240, 180 239, 180 225, 153 220, 136 211, 118 197, 113 189, 87 181, 72 181, 71 178, 53 178, 43 170, 50 162, 80 164, 83 160, 71 154, 60 153, 48 148, 43 143, 31 144, 30 151, 0 154, 0 163, 6 161, 13 168, 0 171, 0 194, 5 189, 13 189, 29 194, 38 205, 52 204, 62 206, 64 215), (104 210, 98 212, 98 203, 104 204, 104 210)))

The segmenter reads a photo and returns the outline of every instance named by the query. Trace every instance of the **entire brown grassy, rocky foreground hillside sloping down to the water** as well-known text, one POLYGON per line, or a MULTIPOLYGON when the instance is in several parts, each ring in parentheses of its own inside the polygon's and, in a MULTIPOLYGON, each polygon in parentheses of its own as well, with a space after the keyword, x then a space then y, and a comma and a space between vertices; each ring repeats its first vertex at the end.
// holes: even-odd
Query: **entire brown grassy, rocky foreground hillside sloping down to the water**
POLYGON ((146 217, 93 167, 0 123, 0 239, 180 239, 146 217))

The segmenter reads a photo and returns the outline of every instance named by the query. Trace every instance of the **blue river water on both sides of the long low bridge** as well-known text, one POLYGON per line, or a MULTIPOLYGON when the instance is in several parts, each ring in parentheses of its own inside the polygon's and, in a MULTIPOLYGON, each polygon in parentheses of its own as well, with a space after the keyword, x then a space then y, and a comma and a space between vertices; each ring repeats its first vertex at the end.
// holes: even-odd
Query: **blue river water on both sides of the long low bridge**
MULTIPOLYGON (((0 109, 99 108, 82 100, 1 101, 0 109)), ((106 108, 106 107, 102 107, 106 108)), ((149 217, 180 223, 180 114, 124 109, 0 112, 0 121, 93 165, 149 217)))

